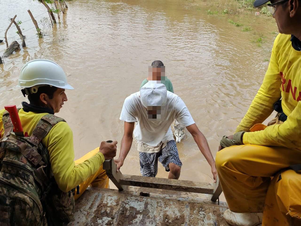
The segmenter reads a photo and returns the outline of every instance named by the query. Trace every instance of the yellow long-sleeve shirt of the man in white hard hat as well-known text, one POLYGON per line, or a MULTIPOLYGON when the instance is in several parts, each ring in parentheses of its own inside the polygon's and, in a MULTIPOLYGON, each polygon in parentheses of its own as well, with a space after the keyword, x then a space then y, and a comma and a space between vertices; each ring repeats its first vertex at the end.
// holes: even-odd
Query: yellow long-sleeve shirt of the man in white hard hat
MULTIPOLYGON (((5 110, 0 110, 0 138, 4 135, 2 115, 5 110)), ((30 136, 38 124, 39 120, 47 113, 36 114, 19 111, 20 121, 24 133, 30 136)), ((96 173, 104 162, 104 155, 98 152, 96 155, 86 161, 75 165, 73 149, 73 133, 66 122, 57 123, 49 133, 44 137, 42 143, 47 147, 51 171, 54 175, 58 187, 67 192, 81 184, 88 177, 96 173)))

